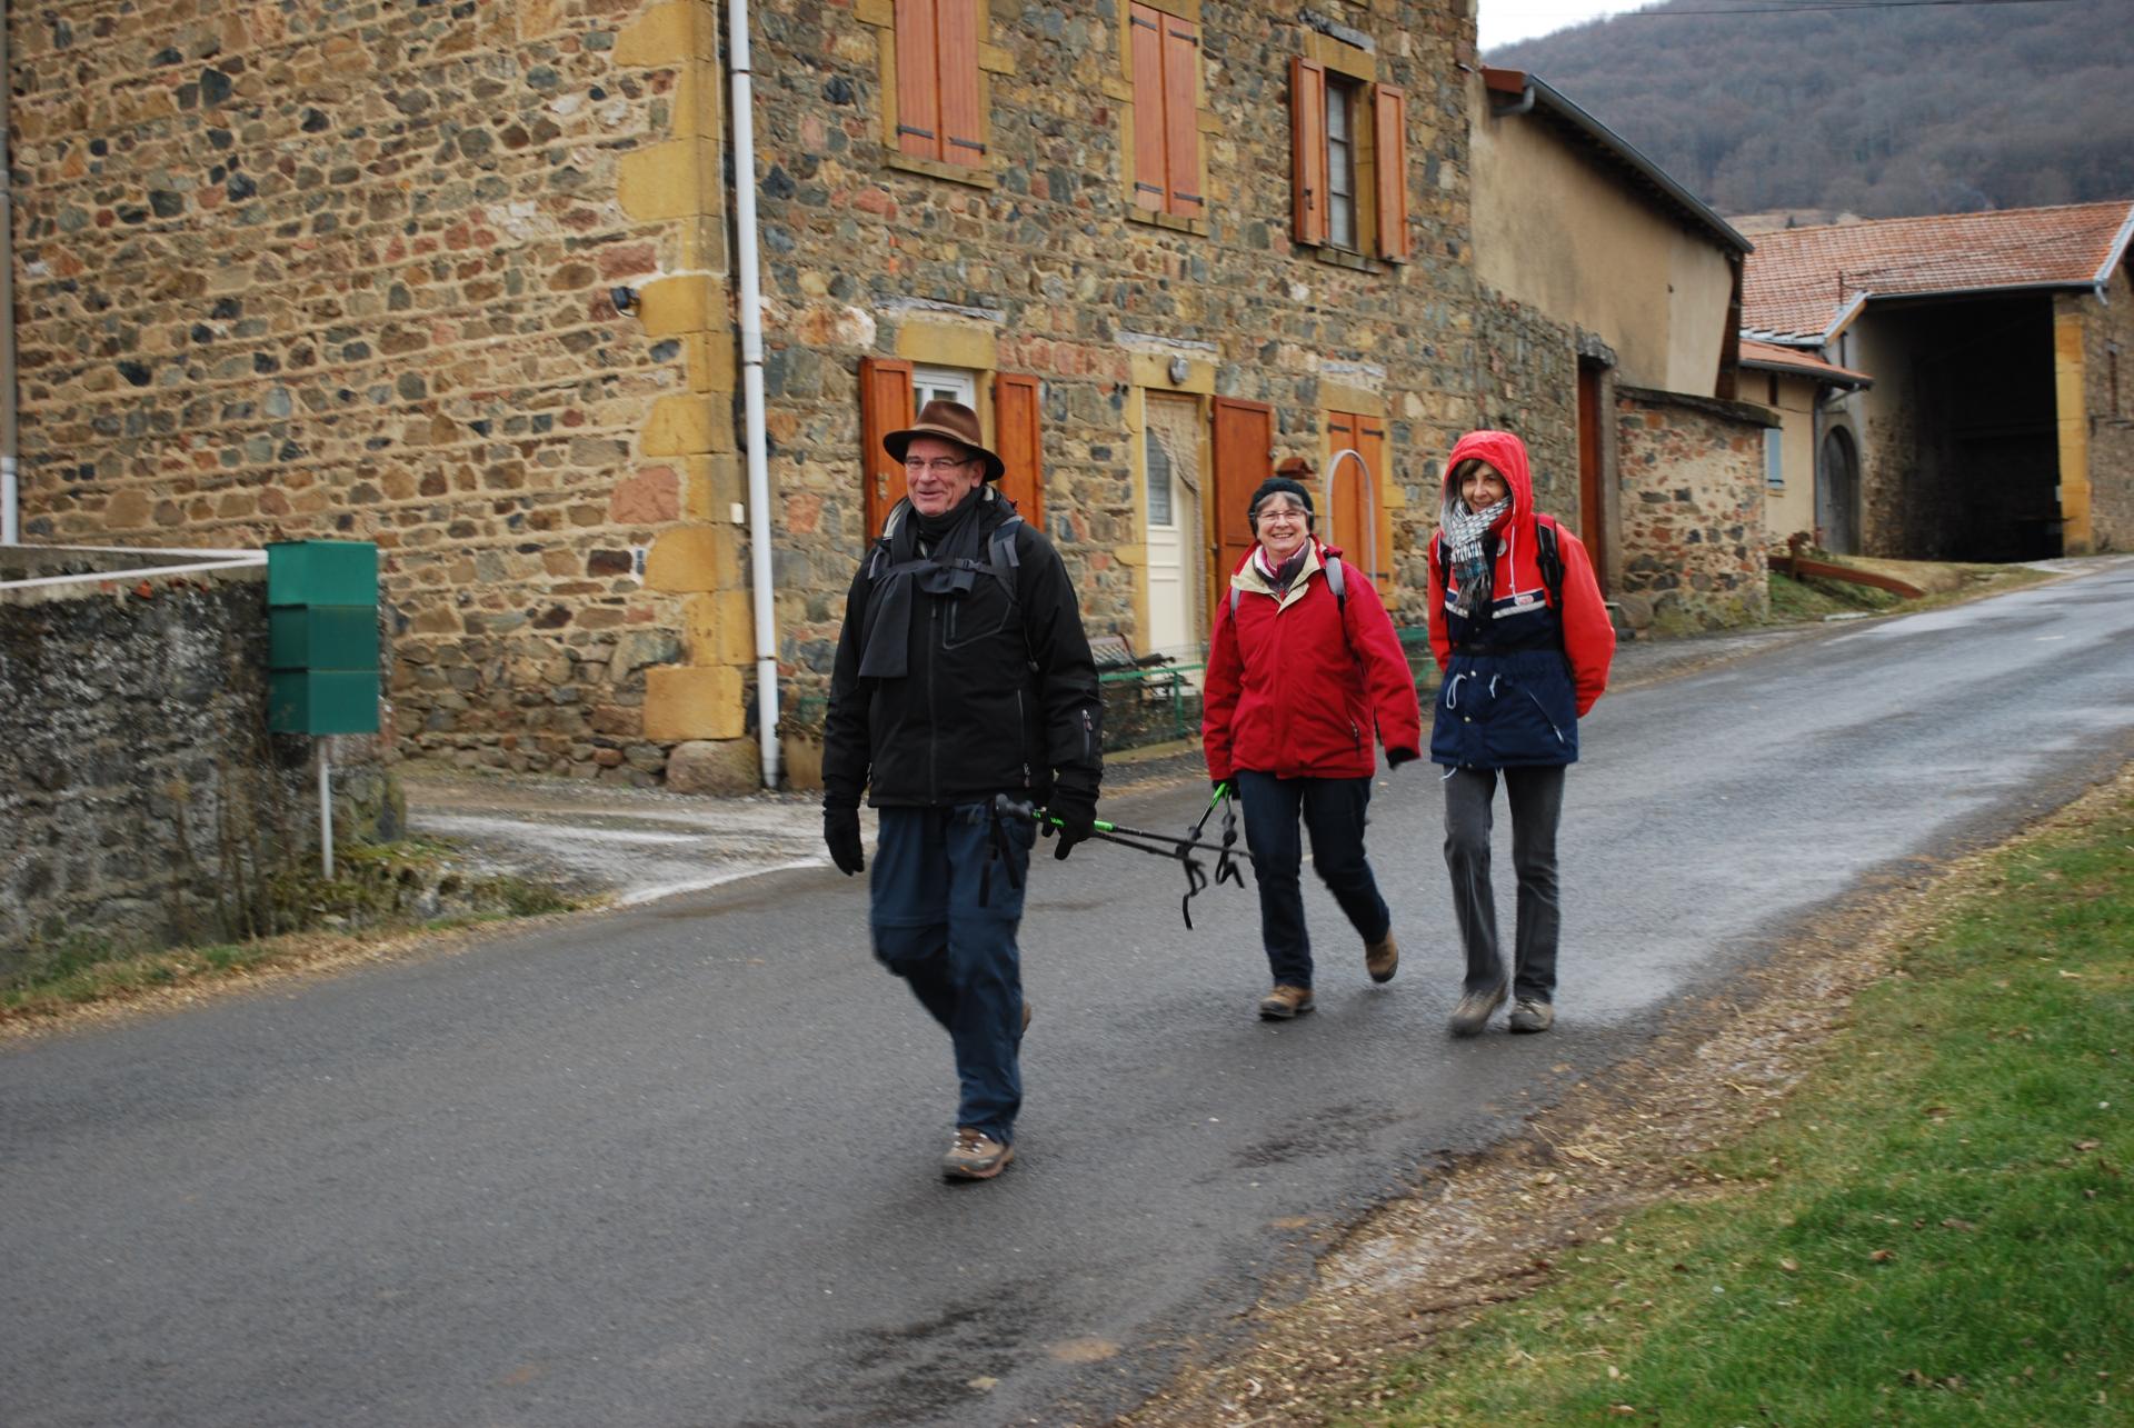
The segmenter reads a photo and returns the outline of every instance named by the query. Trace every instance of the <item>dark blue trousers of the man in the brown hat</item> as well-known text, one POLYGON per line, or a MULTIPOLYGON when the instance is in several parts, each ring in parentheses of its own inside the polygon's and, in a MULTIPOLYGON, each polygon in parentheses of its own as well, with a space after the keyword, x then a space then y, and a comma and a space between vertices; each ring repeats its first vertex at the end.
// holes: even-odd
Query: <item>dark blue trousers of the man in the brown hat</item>
POLYGON ((869 862, 875 956, 956 1044, 956 1125, 1014 1144, 1022 1110, 1022 884, 1037 826, 990 805, 881 809, 869 862), (982 897, 984 894, 984 897, 982 897))

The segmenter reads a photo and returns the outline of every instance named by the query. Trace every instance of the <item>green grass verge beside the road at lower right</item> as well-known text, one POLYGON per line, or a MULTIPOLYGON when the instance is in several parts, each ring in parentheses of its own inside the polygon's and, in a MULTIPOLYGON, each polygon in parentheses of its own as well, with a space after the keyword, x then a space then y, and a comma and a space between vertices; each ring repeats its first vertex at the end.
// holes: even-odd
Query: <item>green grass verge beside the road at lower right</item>
POLYGON ((1733 1189, 1566 1255, 1344 1422, 2134 1422, 2134 798, 2002 854, 1829 1050, 1703 1159, 1733 1189))

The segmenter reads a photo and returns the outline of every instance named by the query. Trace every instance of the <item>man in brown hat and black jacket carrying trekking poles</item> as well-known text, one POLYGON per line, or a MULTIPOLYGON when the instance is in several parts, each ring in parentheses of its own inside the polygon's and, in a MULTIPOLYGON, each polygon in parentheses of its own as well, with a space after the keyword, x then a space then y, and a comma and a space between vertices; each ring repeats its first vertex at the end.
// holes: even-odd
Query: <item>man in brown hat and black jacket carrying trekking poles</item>
POLYGON ((956 1046, 943 1174, 990 1180, 1016 1157, 1031 1020, 1016 929, 1037 837, 994 796, 1044 805, 1065 858, 1095 830, 1103 704, 1067 568, 992 485, 1005 467, 977 414, 928 401, 881 444, 905 463, 905 499, 845 600, 822 830, 858 873, 862 788, 879 809, 875 956, 956 1046))

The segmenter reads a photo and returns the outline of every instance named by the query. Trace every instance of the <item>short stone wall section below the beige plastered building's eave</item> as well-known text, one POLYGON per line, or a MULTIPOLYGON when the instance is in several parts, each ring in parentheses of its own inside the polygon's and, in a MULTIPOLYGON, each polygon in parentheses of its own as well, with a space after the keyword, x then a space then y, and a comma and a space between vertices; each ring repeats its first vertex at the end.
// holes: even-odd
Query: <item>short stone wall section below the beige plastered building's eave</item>
POLYGON ((1763 433, 1743 401, 1615 388, 1622 546, 1618 600, 1662 634, 1763 619, 1763 433))

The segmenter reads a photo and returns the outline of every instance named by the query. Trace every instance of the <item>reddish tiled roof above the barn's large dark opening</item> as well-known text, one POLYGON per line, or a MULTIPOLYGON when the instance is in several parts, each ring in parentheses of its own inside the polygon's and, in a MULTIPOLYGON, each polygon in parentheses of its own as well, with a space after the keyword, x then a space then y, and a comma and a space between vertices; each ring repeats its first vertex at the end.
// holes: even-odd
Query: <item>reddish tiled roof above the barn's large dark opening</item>
POLYGON ((2087 288, 2125 256, 2130 233, 2125 199, 1758 233, 1741 275, 1741 331, 1825 337, 1863 297, 2087 288))

